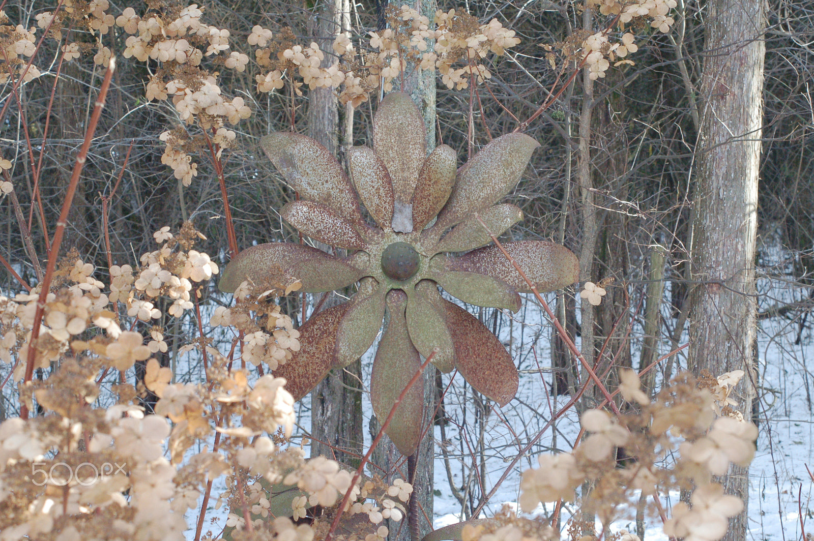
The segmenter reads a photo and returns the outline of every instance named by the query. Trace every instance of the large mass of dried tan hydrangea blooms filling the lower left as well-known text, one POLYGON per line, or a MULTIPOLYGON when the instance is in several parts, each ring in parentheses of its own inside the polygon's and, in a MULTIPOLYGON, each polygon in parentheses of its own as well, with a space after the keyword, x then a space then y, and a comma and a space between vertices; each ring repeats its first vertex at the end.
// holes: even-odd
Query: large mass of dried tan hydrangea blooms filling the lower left
MULTIPOLYGON (((175 234, 168 228, 157 231, 155 240, 163 246, 143 256, 145 267, 134 273, 122 265, 111 273, 114 302, 138 294, 168 294, 177 287, 165 274, 170 268, 176 269, 171 276, 186 273, 192 281, 212 277, 208 264, 196 264, 191 255, 196 236, 190 227, 175 234), (169 249, 173 242, 186 250, 169 249), (161 268, 151 266, 156 262, 161 268)), ((325 457, 304 460, 300 447, 281 447, 294 424, 294 399, 283 388, 284 379, 230 369, 231 361, 207 346, 210 362, 202 384, 173 382, 168 368, 155 359, 147 361, 143 383, 159 397, 155 415, 145 416, 134 405, 143 389, 121 383, 112 386, 113 396, 103 391, 107 383, 99 373, 146 360, 161 349, 163 336, 153 328, 150 345, 144 345, 141 334, 120 330, 94 270, 72 255, 56 273, 42 336, 61 345, 50 348, 55 364, 42 367, 47 377, 21 389, 24 403, 34 409, 36 400, 45 414, 0 424, 2 539, 180 541, 188 528, 184 513, 197 509, 208 481, 224 474, 229 491, 221 497, 235 510, 228 527, 245 525, 244 517, 251 516, 248 527, 285 539, 309 541, 315 537, 313 528, 326 530, 338 512, 330 506, 351 488, 352 475, 325 457), (111 398, 116 404, 99 407, 111 398), (209 451, 214 432, 220 440, 209 451), (191 452, 196 445, 203 450, 191 452), (313 528, 295 526, 288 518, 304 516, 316 504, 326 509, 313 528)), ((268 302, 279 293, 263 297, 268 302)), ((3 298, 0 308, 3 329, 18 342, 13 329, 25 328, 26 321, 30 327, 33 304, 3 298)), ((278 309, 266 309, 259 319, 274 313, 278 309)), ((4 360, 24 358, 16 343, 8 346, 4 360)), ((387 486, 374 479, 353 491, 361 500, 354 497, 348 513, 367 516, 363 523, 354 522, 361 526, 348 541, 383 539, 387 528, 381 522, 404 516, 412 486, 401 480, 387 486)))

